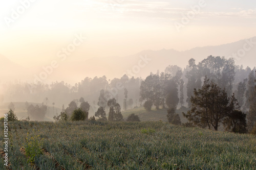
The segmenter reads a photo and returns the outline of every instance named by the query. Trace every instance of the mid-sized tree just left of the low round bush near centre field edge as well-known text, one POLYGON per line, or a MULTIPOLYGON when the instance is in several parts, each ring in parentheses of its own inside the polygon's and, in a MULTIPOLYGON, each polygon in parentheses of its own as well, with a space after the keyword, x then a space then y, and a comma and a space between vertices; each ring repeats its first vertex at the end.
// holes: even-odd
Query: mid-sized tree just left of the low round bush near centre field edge
POLYGON ((110 99, 107 104, 110 108, 109 121, 121 121, 121 120, 123 120, 123 116, 121 114, 121 107, 116 102, 116 99, 115 98, 110 99))

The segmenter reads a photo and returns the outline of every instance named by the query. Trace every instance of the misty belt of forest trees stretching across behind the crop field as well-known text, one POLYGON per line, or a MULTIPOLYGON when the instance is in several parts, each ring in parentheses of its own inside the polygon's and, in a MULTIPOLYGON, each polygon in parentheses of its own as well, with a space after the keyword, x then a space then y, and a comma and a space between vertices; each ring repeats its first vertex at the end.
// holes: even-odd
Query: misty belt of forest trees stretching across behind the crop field
MULTIPOLYGON (((222 125, 228 131, 246 133, 255 124, 254 86, 255 67, 235 65, 232 58, 208 56, 198 64, 191 58, 184 69, 169 65, 145 79, 87 77, 74 86, 63 81, 50 85, 10 83, 5 86, 6 99, 2 102, 24 101, 27 119, 31 120, 44 120, 46 115, 55 120, 64 115, 71 118, 77 110, 84 112, 84 119, 121 121, 122 111, 144 107, 146 111, 166 109, 166 120, 181 124, 176 110, 187 108, 189 111, 183 113, 187 126, 218 130, 222 125)), ((14 104, 8 109, 15 111, 14 104)))

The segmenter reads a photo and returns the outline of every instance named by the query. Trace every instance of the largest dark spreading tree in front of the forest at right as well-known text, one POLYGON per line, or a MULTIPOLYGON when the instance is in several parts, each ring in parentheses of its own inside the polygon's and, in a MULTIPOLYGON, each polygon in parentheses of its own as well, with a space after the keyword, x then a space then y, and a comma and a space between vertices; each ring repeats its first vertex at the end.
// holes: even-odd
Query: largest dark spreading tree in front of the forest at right
POLYGON ((221 89, 214 82, 205 77, 202 88, 194 90, 191 96, 191 110, 183 115, 200 127, 208 126, 218 130, 220 123, 238 107, 234 94, 231 99, 227 97, 225 89, 221 89))

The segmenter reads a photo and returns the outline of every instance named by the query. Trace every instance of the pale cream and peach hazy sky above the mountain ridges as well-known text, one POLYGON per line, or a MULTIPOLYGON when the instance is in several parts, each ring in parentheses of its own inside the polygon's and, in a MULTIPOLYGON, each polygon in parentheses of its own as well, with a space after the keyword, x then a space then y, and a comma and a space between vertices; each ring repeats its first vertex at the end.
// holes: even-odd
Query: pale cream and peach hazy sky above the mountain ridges
POLYGON ((57 58, 79 34, 87 39, 70 60, 162 48, 184 51, 250 38, 256 1, 8 0, 0 3, 0 18, 0 54, 30 66, 57 58), (195 6, 201 7, 183 24, 195 6), (180 32, 175 23, 183 24, 180 32))

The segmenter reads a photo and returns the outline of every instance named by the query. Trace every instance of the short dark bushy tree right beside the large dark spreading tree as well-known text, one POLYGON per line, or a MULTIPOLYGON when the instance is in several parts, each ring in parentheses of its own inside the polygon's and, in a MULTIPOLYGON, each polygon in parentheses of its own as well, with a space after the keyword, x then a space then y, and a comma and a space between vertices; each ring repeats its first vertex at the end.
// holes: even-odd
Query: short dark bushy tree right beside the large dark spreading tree
POLYGON ((234 133, 247 133, 246 114, 240 110, 234 110, 224 120, 227 131, 234 133))

